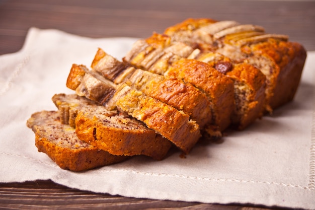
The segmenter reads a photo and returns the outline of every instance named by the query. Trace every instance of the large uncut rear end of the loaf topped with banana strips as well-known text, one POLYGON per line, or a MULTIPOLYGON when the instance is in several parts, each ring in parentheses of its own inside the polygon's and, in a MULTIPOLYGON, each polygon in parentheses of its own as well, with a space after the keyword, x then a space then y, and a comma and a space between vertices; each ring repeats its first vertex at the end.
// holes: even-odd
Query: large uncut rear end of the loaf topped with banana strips
POLYGON ((258 67, 267 79, 266 111, 293 100, 306 51, 299 43, 289 42, 288 36, 267 34, 261 26, 207 19, 188 19, 169 27, 165 34, 171 41, 184 41, 201 51, 216 51, 258 67))

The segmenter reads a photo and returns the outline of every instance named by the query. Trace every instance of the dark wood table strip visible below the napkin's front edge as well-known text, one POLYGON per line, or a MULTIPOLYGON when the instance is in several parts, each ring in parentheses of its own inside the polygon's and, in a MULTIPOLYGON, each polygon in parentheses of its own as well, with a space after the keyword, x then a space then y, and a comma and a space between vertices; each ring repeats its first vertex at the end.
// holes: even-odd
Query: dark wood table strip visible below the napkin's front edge
MULTIPOLYGON (((112 196, 71 189, 49 180, 0 184, 0 209, 222 209, 267 210, 269 208, 217 205, 198 202, 153 200, 112 196)), ((273 208, 279 209, 279 208, 273 208)), ((279 209, 280 210, 280 209, 279 209)), ((284 210, 284 209, 282 209, 284 210)))

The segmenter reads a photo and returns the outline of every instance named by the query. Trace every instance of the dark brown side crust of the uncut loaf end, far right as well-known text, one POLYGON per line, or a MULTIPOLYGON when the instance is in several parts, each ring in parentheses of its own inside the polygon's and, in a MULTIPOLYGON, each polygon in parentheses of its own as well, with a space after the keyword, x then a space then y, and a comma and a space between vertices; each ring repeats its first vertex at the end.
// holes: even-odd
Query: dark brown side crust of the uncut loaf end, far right
POLYGON ((267 77, 269 109, 276 109, 292 101, 306 60, 303 46, 296 42, 269 39, 243 47, 242 50, 254 54, 248 58, 249 62, 259 66, 267 77), (248 51, 249 48, 251 50, 248 51))

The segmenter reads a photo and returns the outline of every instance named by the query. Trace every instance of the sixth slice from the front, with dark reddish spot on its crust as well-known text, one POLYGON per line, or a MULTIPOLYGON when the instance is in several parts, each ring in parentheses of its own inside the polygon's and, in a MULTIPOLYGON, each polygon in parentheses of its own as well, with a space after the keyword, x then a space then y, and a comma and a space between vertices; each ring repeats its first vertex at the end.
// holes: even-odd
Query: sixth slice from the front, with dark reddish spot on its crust
MULTIPOLYGON (((260 89, 265 89, 266 85, 263 80, 265 76, 254 66, 251 66, 247 63, 238 64, 238 69, 234 68, 234 63, 232 60, 220 53, 217 52, 203 52, 200 49, 195 49, 183 42, 172 42, 171 37, 163 34, 153 33, 153 35, 145 40, 139 40, 135 43, 134 48, 132 48, 127 56, 124 58, 125 61, 129 61, 135 66, 141 66, 140 63, 136 63, 138 55, 145 58, 145 56, 150 55, 154 51, 152 48, 163 49, 165 54, 160 56, 158 59, 155 59, 155 62, 146 69, 150 72, 163 73, 167 72, 167 69, 172 66, 172 63, 179 60, 179 57, 187 57, 188 59, 196 59, 202 62, 209 64, 211 67, 214 67, 220 73, 231 78, 233 73, 226 74, 227 72, 238 72, 240 65, 243 65, 242 71, 250 71, 251 77, 246 76, 245 74, 238 74, 238 77, 233 76, 231 79, 234 82, 234 98, 235 98, 235 108, 232 117, 232 123, 234 127, 239 129, 244 129, 250 122, 253 122, 256 118, 262 116, 265 105, 265 93, 264 91, 256 91, 260 89), (139 45, 146 47, 139 47, 139 45), (147 50, 147 49, 150 50, 147 50), (190 50, 187 50, 189 48, 190 50), (142 50, 142 51, 139 51, 142 50), (183 53, 189 52, 189 53, 183 53), (173 54, 172 54, 173 53, 173 54), (176 57, 176 58, 175 58, 176 57), (240 77, 242 76, 242 77, 240 77), (253 81, 253 78, 257 78, 258 81, 253 81), (250 86, 244 86, 241 84, 253 85, 255 83, 256 89, 250 88, 250 86), (257 87, 260 84, 260 87, 257 87), (240 90, 240 88, 243 90, 240 90), (245 90, 244 88, 249 87, 245 90), (247 93, 247 96, 244 97, 244 93, 247 93), (243 93, 243 94, 240 94, 243 93), (259 100, 257 100, 259 99, 259 100), (242 102, 242 103, 241 103, 242 102), (255 104, 255 106, 254 106, 255 104)), ((183 66, 184 67, 184 66, 183 66)), ((236 74, 236 73, 235 73, 236 74)))

